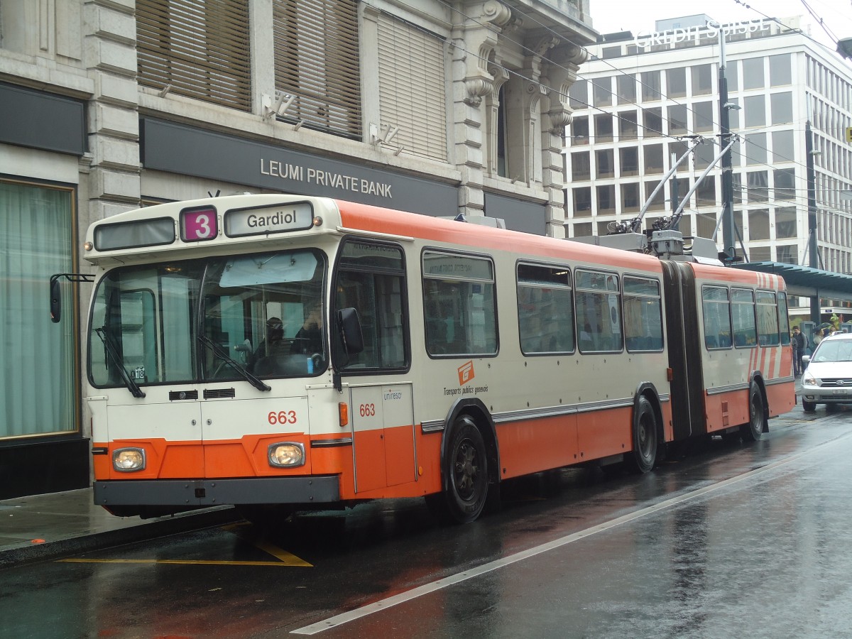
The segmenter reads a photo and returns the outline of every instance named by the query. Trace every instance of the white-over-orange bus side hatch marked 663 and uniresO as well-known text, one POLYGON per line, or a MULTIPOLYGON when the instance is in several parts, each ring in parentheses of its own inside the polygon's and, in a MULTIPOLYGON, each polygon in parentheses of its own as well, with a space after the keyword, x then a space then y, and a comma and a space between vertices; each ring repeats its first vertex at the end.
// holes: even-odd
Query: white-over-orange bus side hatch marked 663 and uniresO
POLYGON ((349 387, 355 492, 417 479, 412 384, 349 387))

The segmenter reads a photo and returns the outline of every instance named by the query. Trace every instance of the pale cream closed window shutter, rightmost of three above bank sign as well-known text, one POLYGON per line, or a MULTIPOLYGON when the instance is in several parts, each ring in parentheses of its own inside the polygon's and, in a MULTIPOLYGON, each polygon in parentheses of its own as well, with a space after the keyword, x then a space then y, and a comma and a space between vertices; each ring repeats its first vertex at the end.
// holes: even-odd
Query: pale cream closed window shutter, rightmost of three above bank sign
POLYGON ((446 161, 444 41, 387 14, 378 19, 379 109, 392 146, 446 161))

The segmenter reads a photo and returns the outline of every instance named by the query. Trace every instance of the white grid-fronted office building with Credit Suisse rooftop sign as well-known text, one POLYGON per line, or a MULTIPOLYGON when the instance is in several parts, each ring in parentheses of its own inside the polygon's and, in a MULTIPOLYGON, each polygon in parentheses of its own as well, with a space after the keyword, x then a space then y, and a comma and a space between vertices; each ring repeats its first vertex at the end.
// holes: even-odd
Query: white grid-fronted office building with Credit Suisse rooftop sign
MULTIPOLYGON (((567 235, 603 235, 630 221, 688 145, 643 218, 648 229, 720 152, 719 28, 706 15, 659 20, 657 31, 602 35, 571 89, 567 235)), ((818 268, 852 271, 852 73, 799 31, 799 19, 723 25, 732 149, 734 238, 751 262, 809 266, 808 173, 815 175, 818 268), (806 152, 806 123, 814 153, 806 152)), ((689 194, 679 229, 722 250, 717 163, 689 194), (718 227, 718 230, 717 230, 718 227)), ((800 302, 806 305, 806 299, 800 302)))

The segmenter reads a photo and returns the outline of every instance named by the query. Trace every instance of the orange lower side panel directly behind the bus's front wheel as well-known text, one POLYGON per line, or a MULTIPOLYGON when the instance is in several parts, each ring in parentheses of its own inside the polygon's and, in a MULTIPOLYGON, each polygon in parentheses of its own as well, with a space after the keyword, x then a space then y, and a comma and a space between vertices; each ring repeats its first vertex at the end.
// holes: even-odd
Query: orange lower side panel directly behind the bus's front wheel
POLYGON ((503 466, 501 479, 580 461, 574 415, 502 423, 497 427, 497 435, 503 466))

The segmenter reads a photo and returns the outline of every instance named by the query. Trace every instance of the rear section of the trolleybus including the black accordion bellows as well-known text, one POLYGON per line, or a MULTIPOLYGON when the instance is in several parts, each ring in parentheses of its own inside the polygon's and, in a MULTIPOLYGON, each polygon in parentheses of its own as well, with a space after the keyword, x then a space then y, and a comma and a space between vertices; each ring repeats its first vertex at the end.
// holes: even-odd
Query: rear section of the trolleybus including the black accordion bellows
POLYGON ((757 440, 795 404, 783 280, 665 261, 674 440, 757 440))

